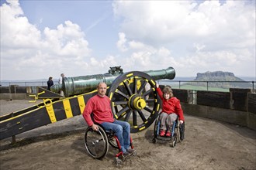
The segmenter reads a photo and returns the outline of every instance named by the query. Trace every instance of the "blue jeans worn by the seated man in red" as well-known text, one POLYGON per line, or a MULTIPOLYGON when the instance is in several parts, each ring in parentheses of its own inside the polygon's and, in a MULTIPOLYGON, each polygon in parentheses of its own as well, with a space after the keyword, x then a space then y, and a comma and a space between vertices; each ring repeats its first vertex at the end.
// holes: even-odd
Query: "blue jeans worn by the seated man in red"
POLYGON ((115 120, 112 123, 103 122, 102 126, 106 131, 114 131, 119 140, 123 153, 130 148, 130 124, 128 122, 115 120))

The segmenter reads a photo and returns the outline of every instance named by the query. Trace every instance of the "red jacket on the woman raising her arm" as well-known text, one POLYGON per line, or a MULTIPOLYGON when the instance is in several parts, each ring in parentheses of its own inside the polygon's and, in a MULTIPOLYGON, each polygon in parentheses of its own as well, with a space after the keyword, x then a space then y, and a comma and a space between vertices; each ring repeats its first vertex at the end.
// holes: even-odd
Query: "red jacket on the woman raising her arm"
POLYGON ((185 121, 183 116, 183 110, 180 101, 176 97, 171 97, 170 99, 166 100, 163 97, 163 92, 158 87, 157 93, 162 100, 162 111, 167 114, 175 113, 178 115, 179 120, 185 121))

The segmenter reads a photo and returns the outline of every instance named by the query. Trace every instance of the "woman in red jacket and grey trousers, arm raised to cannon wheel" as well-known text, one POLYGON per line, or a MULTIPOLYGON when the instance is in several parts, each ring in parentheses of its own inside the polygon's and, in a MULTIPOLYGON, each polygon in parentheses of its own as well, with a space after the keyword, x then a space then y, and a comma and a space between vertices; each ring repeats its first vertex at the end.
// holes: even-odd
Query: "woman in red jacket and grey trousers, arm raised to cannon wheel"
POLYGON ((161 91, 157 84, 157 93, 162 100, 162 111, 159 117, 160 136, 171 137, 171 127, 176 119, 178 118, 181 124, 184 122, 182 106, 180 100, 174 97, 170 86, 164 87, 161 91))

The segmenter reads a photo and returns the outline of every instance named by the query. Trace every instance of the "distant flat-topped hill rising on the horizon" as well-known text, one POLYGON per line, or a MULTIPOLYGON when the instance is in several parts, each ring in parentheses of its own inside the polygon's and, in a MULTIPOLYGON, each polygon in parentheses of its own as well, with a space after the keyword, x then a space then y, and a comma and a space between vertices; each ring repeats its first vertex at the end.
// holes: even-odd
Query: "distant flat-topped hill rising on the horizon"
MULTIPOLYGON (((214 81, 209 82, 208 87, 218 87, 218 88, 251 88, 252 84, 234 76, 234 73, 215 71, 206 73, 197 73, 195 80, 193 81, 214 81), (224 82, 232 81, 232 82, 224 82), (237 81, 237 82, 236 82, 237 81)), ((189 82, 185 83, 192 86, 206 87, 206 82, 189 82)))

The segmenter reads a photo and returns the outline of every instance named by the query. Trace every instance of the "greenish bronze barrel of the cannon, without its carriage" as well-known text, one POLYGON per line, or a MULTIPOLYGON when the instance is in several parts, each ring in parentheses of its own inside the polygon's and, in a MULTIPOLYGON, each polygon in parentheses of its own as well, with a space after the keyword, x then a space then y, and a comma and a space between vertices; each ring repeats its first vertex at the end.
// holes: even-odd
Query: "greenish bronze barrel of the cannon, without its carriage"
MULTIPOLYGON (((88 93, 92 90, 95 90, 98 83, 100 82, 104 82, 107 84, 107 86, 110 86, 117 76, 123 74, 123 70, 120 70, 120 67, 110 68, 111 70, 109 70, 109 73, 104 74, 64 77, 62 84, 54 84, 54 86, 50 87, 50 90, 56 93, 58 93, 60 90, 63 90, 64 96, 70 97, 72 95, 88 93)), ((168 69, 148 70, 143 72, 152 76, 154 80, 172 80, 175 78, 175 69, 172 67, 168 67, 168 69)))

